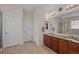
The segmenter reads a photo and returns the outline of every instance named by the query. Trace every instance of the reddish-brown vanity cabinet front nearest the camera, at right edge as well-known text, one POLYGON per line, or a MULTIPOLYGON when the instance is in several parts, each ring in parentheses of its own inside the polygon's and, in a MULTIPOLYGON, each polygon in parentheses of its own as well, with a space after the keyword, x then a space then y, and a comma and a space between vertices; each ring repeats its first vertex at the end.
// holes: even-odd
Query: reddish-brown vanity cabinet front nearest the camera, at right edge
POLYGON ((68 53, 79 54, 79 44, 68 41, 68 53))

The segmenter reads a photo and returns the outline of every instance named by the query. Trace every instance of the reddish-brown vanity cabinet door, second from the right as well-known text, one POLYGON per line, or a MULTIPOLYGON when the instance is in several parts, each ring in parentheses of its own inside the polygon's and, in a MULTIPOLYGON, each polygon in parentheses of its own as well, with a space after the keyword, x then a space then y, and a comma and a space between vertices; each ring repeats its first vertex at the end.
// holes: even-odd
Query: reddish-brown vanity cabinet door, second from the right
POLYGON ((58 53, 67 54, 67 41, 59 39, 58 53))

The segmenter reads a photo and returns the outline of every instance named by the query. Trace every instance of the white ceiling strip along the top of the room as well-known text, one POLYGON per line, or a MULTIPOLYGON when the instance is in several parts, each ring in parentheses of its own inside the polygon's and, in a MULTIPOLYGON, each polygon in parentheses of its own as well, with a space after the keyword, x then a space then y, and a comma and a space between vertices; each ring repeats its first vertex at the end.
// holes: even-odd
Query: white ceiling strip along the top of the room
POLYGON ((33 11, 36 7, 39 6, 55 7, 56 4, 19 4, 17 6, 22 7, 25 11, 33 11))

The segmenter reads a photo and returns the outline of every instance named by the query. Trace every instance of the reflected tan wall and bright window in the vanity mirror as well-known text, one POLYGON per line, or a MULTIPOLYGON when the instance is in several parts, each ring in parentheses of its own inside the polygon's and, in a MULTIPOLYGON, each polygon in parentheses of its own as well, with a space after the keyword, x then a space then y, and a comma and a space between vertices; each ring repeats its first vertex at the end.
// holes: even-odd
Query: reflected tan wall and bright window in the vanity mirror
POLYGON ((63 19, 57 22, 58 33, 63 34, 78 34, 79 35, 79 20, 63 19))

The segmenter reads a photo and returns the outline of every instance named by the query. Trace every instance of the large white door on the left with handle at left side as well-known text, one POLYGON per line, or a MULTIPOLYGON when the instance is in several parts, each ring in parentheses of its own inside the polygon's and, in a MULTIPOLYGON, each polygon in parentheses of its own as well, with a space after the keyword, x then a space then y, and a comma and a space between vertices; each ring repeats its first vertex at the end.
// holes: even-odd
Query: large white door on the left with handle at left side
POLYGON ((4 47, 10 47, 19 44, 19 18, 17 16, 4 16, 4 47))

